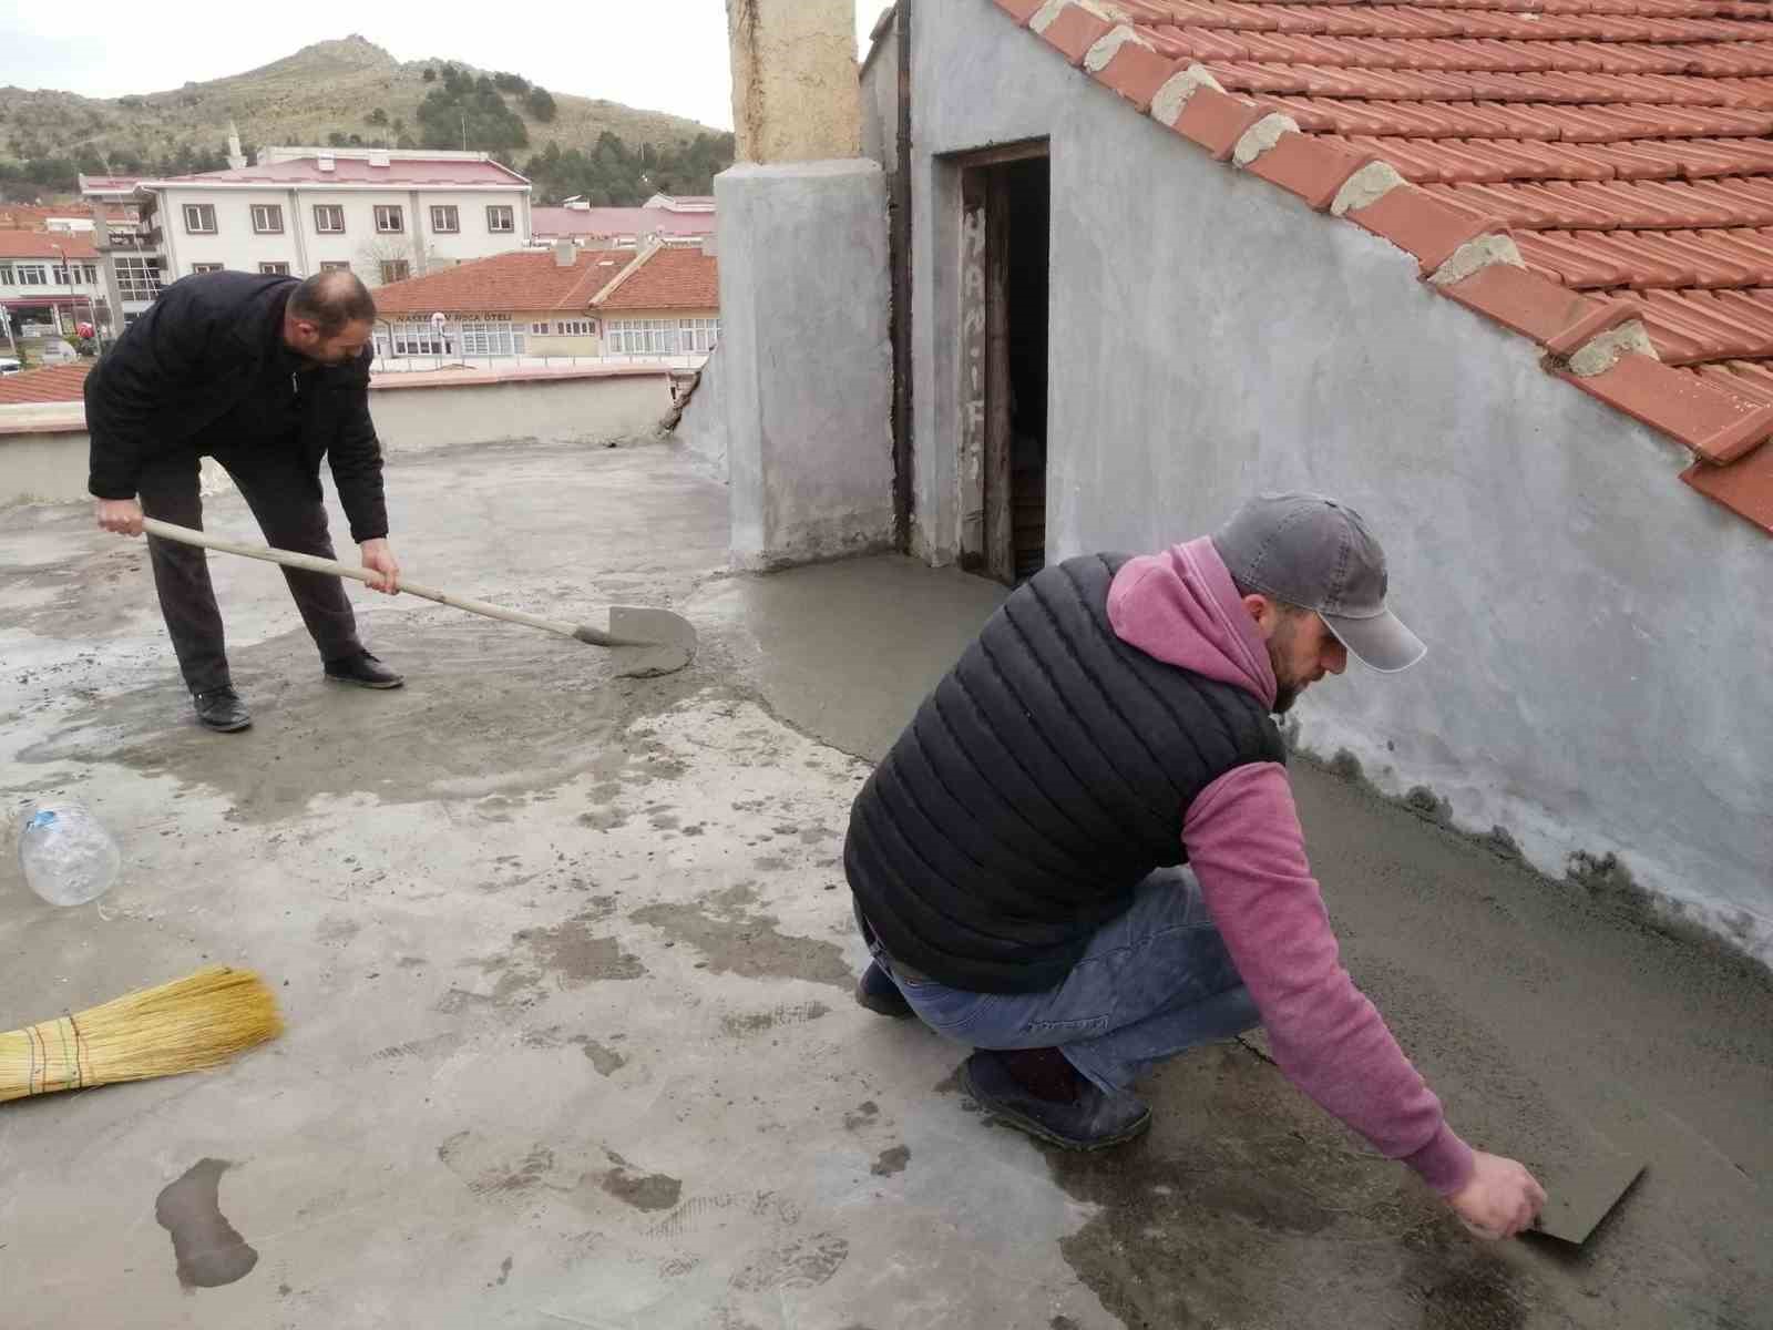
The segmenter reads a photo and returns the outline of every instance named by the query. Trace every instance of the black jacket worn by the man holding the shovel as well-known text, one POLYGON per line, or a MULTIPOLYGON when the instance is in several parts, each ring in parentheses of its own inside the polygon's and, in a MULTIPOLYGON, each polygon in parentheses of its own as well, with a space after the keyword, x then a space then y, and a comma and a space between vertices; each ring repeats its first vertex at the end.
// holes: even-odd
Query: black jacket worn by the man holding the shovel
MULTIPOLYGON (((250 273, 186 277, 129 325, 87 376, 87 488, 96 497, 135 498, 147 463, 200 443, 211 426, 264 392, 266 374, 284 353, 284 307, 296 286, 293 277, 250 273)), ((356 362, 296 376, 300 426, 293 442, 234 440, 296 447, 316 477, 330 454, 339 502, 358 543, 388 534, 381 443, 369 419, 371 360, 365 348, 356 362)))

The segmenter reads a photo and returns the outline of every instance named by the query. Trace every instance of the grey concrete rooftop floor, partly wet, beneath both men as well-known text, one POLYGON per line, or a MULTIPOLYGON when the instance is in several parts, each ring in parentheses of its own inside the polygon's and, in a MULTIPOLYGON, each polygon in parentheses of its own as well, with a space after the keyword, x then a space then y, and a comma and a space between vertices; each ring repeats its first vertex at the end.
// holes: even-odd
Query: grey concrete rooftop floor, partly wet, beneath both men
MULTIPOLYGON (((259 724, 209 736, 140 548, 0 514, 5 805, 76 794, 128 865, 55 911, 0 860, 0 1025, 204 961, 289 1020, 213 1075, 0 1108, 9 1326, 1766 1325, 1755 974, 1301 766, 1346 959, 1452 1121, 1649 1172, 1583 1252, 1479 1245, 1239 1044, 1152 1078, 1145 1142, 1044 1153, 970 1112, 961 1050, 847 1000, 862 759, 996 589, 730 576, 723 491, 658 447, 402 456, 390 484, 417 576, 567 619, 661 603, 702 651, 619 681, 365 594, 411 685, 326 690, 275 569, 216 559, 259 724), (145 1222, 191 1160, 248 1162, 218 1213, 264 1266, 197 1293, 145 1222)), ((238 498, 211 516, 252 534, 238 498)))

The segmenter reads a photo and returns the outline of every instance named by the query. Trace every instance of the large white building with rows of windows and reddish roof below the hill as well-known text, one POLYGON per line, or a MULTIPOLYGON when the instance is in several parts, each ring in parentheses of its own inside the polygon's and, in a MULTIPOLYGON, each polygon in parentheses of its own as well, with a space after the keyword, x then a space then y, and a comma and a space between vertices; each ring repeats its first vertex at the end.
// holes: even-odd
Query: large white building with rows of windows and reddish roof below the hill
POLYGON ((486 153, 268 147, 248 167, 230 147, 227 170, 135 186, 167 282, 349 268, 381 286, 530 241, 530 183, 486 153))

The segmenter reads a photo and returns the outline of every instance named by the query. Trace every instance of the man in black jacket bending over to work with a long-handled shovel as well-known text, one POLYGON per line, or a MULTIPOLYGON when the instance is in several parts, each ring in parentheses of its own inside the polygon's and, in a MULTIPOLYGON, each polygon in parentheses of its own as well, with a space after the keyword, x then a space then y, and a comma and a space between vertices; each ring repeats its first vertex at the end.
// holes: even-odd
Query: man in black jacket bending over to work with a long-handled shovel
MULTIPOLYGON (((264 539, 333 557, 319 466, 351 521, 371 585, 394 596, 381 443, 369 419, 376 301, 348 271, 293 277, 204 273, 167 287, 87 376, 89 489, 99 527, 140 536, 142 516, 202 527, 199 465, 234 477, 264 539)), ((160 610, 191 690, 215 731, 252 724, 229 677, 222 612, 204 550, 149 537, 160 610)), ((399 688, 363 649, 340 578, 285 567, 289 594, 319 647, 326 679, 399 688)))

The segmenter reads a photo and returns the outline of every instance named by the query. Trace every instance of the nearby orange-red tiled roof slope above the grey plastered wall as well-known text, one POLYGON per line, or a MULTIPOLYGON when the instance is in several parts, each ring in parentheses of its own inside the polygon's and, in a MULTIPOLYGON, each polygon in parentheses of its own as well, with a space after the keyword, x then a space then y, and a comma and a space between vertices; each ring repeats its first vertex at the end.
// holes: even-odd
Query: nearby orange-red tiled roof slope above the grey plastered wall
POLYGON ((1413 254, 1773 534, 1773 4, 995 4, 1215 158, 1413 254))

